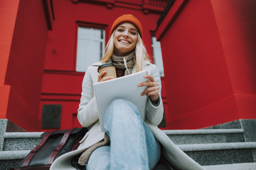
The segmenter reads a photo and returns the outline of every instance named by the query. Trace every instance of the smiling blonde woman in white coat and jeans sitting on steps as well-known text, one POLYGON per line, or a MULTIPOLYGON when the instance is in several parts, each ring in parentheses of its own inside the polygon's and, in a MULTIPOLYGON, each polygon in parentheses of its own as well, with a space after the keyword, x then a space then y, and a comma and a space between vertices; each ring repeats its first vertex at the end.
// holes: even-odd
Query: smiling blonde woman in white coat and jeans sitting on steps
POLYGON ((79 164, 87 170, 154 169, 161 154, 159 142, 170 164, 184 170, 203 169, 157 128, 164 113, 161 79, 156 65, 149 62, 142 42, 142 24, 130 14, 119 16, 110 34, 105 56, 100 62, 88 67, 82 81, 78 120, 89 131, 77 150, 56 159, 50 169, 74 169, 70 166, 70 160, 78 154, 81 154, 79 164), (145 121, 133 103, 115 99, 105 113, 105 132, 102 132, 92 84, 113 79, 103 77, 106 72, 97 73, 97 68, 105 62, 114 64, 117 77, 147 70, 145 78, 149 81, 137 84, 146 87, 141 95, 148 96, 145 121))

